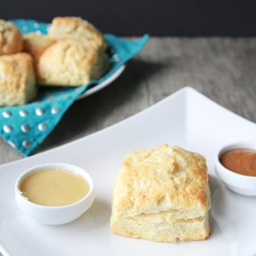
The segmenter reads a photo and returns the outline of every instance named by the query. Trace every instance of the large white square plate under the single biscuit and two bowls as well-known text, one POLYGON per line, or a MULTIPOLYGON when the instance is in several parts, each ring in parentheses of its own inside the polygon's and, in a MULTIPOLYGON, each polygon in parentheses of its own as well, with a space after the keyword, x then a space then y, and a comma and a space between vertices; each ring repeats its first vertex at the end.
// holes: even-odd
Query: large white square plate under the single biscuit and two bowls
POLYGON ((80 140, 0 166, 0 251, 13 256, 255 256, 256 201, 236 194, 217 178, 216 151, 248 141, 256 124, 184 88, 151 108, 80 140), (232 129, 230 129, 232 127, 232 129), (123 157, 135 148, 162 143, 205 155, 209 167, 212 235, 205 241, 153 243, 112 234, 111 191, 123 157), (14 183, 27 168, 69 162, 87 170, 95 186, 93 205, 80 218, 59 226, 33 221, 17 206, 14 183))

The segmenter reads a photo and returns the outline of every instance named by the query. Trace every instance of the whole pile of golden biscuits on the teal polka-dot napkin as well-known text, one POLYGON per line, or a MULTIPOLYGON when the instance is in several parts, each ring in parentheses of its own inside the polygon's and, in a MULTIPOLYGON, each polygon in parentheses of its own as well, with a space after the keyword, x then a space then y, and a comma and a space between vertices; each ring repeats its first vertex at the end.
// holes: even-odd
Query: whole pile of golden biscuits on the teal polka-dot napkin
POLYGON ((25 34, 0 20, 0 106, 23 105, 44 86, 80 86, 109 68, 107 43, 91 23, 54 18, 47 35, 25 34), (23 51, 23 53, 20 53, 23 51))

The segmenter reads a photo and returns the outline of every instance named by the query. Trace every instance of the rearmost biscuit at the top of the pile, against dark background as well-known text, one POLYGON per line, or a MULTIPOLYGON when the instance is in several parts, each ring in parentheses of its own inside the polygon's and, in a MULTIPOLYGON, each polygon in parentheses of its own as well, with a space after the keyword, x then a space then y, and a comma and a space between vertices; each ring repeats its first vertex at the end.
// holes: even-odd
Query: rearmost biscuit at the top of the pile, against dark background
POLYGON ((101 32, 93 24, 80 17, 56 17, 52 21, 48 36, 53 39, 76 39, 86 41, 93 47, 107 48, 101 32))

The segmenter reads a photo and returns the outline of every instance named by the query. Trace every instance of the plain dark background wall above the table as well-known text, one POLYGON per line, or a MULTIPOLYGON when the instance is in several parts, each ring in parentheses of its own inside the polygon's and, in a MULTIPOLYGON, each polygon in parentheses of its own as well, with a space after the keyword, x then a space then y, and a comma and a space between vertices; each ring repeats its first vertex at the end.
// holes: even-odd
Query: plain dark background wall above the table
POLYGON ((256 1, 1 0, 0 18, 50 22, 81 16, 104 33, 156 36, 256 35, 256 1))

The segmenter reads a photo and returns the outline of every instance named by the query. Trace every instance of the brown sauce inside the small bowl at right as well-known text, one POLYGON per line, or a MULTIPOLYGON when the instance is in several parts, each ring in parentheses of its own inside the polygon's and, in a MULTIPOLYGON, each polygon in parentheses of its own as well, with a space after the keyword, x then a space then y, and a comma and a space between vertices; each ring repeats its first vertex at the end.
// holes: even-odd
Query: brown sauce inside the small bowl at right
POLYGON ((230 171, 256 176, 256 150, 251 148, 235 148, 225 152, 220 162, 230 171))

